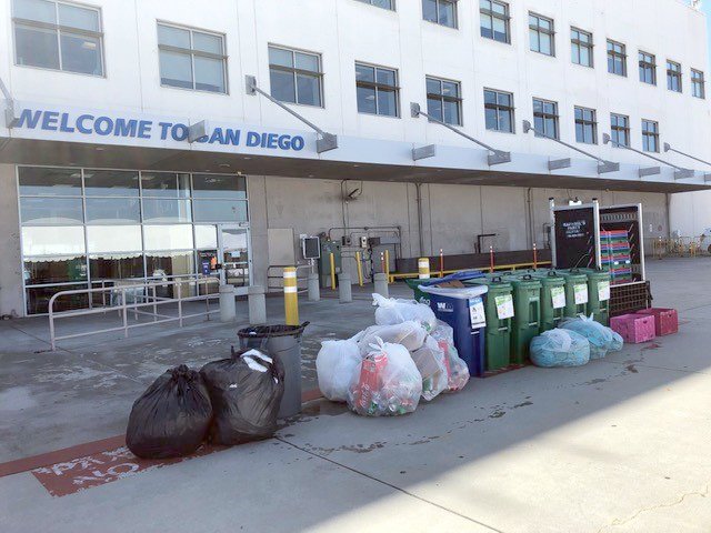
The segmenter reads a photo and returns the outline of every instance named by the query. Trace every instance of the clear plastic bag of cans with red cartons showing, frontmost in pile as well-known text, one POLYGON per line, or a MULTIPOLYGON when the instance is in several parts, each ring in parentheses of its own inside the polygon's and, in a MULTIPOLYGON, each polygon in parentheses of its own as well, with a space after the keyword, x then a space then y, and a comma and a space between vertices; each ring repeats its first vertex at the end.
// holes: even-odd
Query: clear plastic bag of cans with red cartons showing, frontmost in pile
POLYGON ((422 375, 401 344, 375 339, 372 351, 356 369, 348 406, 364 416, 413 412, 422 394, 422 375))

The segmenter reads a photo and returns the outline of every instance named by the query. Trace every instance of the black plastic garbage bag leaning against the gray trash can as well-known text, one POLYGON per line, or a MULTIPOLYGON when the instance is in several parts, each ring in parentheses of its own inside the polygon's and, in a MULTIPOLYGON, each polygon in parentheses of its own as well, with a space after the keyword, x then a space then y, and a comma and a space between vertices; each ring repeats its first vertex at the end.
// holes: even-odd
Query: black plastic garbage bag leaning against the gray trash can
POLYGON ((279 356, 258 349, 232 349, 230 359, 212 361, 200 373, 214 410, 212 442, 241 444, 274 434, 284 394, 284 368, 279 356))

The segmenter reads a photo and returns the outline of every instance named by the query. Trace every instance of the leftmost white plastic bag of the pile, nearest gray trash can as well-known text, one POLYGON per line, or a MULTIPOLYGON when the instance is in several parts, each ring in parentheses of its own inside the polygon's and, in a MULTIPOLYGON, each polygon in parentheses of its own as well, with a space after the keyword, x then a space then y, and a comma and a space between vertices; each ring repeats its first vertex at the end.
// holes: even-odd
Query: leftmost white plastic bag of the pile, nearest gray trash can
POLYGON ((316 372, 319 389, 332 402, 344 402, 356 368, 362 358, 358 342, 353 339, 344 341, 323 341, 316 356, 316 372))

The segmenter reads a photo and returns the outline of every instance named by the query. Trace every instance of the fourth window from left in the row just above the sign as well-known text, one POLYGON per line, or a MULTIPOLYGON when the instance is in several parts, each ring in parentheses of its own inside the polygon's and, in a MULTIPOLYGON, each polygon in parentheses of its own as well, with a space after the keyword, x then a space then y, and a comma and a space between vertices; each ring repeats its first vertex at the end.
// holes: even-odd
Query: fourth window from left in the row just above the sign
POLYGON ((358 112, 398 117, 398 71, 356 63, 358 112))

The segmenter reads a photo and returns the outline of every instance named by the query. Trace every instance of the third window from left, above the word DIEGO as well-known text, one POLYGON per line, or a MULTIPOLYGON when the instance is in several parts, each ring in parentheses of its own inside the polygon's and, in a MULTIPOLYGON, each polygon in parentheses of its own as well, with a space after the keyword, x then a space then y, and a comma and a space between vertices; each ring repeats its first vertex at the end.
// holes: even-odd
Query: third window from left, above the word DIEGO
POLYGON ((271 95, 282 102, 323 107, 321 57, 269 47, 271 95))

